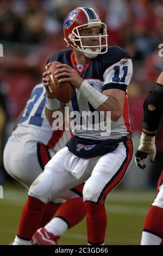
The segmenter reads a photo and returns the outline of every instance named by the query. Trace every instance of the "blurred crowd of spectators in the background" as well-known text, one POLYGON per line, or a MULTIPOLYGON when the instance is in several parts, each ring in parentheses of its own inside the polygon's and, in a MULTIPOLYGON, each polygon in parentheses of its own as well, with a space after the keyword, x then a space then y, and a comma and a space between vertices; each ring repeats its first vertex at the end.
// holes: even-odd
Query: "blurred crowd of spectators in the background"
MULTIPOLYGON (((133 58, 130 118, 133 131, 140 132, 142 102, 163 70, 163 57, 159 56, 159 45, 163 44, 163 1, 0 0, 0 150, 9 136, 10 124, 21 112, 34 85, 41 81, 48 58, 66 48, 62 22, 69 11, 79 6, 96 9, 108 26, 109 45, 125 48, 133 58)), ((161 159, 162 136, 158 135, 161 159)), ((0 166, 1 159, 2 154, 0 166)))

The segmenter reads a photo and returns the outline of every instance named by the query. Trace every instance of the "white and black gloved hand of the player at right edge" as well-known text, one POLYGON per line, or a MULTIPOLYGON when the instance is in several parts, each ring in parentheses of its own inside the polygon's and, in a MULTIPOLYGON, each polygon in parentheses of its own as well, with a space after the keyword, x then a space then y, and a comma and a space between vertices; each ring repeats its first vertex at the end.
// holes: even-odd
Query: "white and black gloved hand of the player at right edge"
POLYGON ((155 136, 149 136, 142 132, 140 145, 135 155, 136 166, 143 170, 146 167, 147 156, 149 155, 151 162, 153 162, 155 154, 155 136))

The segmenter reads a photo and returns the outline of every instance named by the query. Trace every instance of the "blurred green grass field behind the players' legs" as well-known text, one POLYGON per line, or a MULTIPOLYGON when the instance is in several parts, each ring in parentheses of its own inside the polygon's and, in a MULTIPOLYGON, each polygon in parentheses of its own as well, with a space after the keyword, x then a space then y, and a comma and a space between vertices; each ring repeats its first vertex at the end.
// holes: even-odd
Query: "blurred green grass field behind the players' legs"
MULTIPOLYGON (((108 228, 105 245, 139 245, 145 215, 154 191, 115 190, 105 202, 108 228)), ((15 237, 27 191, 17 184, 3 186, 0 199, 0 245, 8 245, 15 237)), ((86 219, 68 230, 59 245, 86 245, 86 219)))

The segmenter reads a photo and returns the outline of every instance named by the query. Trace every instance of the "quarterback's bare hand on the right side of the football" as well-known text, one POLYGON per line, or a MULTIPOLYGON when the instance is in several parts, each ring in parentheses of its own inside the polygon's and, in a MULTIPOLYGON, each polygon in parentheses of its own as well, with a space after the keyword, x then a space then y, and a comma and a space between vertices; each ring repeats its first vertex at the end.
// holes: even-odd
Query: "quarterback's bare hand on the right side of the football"
POLYGON ((76 70, 67 64, 59 64, 57 68, 59 69, 55 71, 55 78, 58 78, 59 83, 70 82, 74 88, 80 88, 84 80, 78 75, 76 70), (66 78, 62 78, 63 76, 66 76, 66 78))

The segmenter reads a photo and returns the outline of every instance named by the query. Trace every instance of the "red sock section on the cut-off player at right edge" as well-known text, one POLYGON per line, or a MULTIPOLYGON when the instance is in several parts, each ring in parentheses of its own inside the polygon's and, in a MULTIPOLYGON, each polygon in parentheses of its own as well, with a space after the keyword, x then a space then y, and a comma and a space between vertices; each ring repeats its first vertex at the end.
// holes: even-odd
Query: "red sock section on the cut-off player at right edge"
POLYGON ((152 206, 145 219, 144 231, 151 231, 155 235, 163 237, 163 209, 158 206, 152 206))

